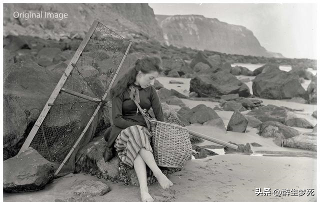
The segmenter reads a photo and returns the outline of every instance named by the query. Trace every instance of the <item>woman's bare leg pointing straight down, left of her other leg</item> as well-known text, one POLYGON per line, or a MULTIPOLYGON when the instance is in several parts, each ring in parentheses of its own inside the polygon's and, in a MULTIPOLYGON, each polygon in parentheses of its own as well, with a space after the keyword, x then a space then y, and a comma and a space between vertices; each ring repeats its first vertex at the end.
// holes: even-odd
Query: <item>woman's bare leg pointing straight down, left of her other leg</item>
POLYGON ((148 186, 146 183, 146 169, 145 162, 139 154, 136 155, 133 161, 134 170, 136 176, 138 177, 139 186, 140 186, 140 197, 142 202, 152 202, 153 198, 149 194, 148 186))

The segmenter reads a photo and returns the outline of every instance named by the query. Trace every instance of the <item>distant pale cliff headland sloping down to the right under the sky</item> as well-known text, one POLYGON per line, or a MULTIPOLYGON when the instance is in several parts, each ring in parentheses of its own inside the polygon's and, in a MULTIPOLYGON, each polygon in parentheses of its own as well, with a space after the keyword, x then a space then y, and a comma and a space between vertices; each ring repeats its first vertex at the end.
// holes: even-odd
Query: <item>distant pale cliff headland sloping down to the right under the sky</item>
MULTIPOLYGON (((230 54, 280 56, 262 47, 252 31, 202 15, 156 15, 166 44, 230 54)), ((283 56, 282 56, 283 57, 283 56)))

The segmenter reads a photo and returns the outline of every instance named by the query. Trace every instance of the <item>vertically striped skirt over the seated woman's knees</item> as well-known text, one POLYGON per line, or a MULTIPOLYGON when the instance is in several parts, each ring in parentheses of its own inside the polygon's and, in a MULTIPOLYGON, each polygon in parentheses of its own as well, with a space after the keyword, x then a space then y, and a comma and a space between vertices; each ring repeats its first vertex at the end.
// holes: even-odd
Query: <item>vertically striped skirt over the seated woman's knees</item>
POLYGON ((133 161, 141 148, 145 148, 151 152, 150 138, 143 131, 143 126, 132 125, 119 133, 115 139, 115 150, 121 161, 130 167, 133 166, 133 161))

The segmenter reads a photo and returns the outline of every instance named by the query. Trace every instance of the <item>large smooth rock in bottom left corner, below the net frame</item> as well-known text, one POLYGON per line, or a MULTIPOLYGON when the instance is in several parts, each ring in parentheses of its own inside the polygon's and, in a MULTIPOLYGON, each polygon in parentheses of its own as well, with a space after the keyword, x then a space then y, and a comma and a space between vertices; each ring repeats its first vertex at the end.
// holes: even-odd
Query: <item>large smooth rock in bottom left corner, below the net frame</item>
POLYGON ((28 147, 3 161, 3 190, 7 192, 41 189, 53 179, 54 167, 35 149, 28 147))

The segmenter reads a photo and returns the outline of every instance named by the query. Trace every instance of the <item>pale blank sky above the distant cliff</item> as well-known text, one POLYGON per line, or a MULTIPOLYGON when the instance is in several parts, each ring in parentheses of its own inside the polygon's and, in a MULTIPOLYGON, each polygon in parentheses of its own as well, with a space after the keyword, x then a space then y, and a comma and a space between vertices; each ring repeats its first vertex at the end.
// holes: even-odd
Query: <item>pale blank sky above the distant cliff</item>
POLYGON ((316 59, 315 3, 148 3, 154 14, 199 14, 251 30, 268 51, 316 59))

